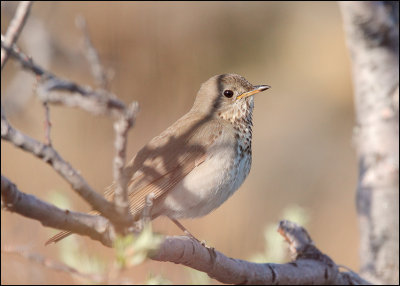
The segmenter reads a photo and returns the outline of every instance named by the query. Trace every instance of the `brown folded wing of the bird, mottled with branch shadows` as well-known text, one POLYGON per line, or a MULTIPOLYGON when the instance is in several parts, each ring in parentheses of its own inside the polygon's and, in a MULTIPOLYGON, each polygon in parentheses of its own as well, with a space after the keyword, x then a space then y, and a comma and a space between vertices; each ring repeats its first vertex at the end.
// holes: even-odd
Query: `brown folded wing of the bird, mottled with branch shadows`
MULTIPOLYGON (((132 178, 128 183, 131 213, 141 215, 147 195, 152 193, 156 200, 204 162, 207 149, 221 134, 219 120, 187 114, 145 145, 125 168, 132 178)), ((109 199, 114 189, 107 191, 109 199)))

